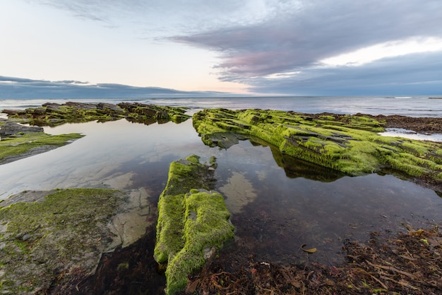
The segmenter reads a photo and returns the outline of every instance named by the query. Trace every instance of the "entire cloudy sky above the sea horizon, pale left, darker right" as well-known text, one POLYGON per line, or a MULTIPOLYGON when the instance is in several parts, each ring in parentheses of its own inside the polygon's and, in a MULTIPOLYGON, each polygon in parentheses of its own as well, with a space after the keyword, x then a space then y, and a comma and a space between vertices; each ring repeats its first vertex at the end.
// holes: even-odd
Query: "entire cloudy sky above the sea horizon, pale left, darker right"
POLYGON ((0 0, 0 98, 442 94, 440 0, 0 0))

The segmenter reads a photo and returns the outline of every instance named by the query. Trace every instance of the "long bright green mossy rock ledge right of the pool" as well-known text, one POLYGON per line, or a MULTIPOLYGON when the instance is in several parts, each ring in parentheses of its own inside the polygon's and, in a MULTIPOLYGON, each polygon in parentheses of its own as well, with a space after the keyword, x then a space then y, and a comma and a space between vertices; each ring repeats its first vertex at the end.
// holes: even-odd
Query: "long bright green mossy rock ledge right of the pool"
POLYGON ((282 154, 347 175, 393 168, 411 177, 442 182, 442 144, 383 137, 385 122, 364 115, 311 117, 278 110, 203 110, 193 127, 205 144, 224 147, 225 134, 263 139, 282 154))

